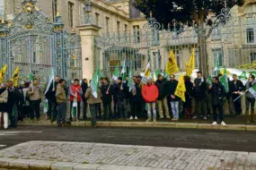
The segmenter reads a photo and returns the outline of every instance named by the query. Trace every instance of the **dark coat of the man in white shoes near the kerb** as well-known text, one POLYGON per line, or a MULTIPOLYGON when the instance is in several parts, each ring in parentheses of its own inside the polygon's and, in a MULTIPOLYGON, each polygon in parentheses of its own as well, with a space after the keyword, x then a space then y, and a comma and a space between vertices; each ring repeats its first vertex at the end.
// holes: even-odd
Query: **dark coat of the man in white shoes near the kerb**
POLYGON ((225 87, 220 82, 218 84, 214 83, 210 92, 212 94, 212 105, 222 106, 225 98, 225 87))

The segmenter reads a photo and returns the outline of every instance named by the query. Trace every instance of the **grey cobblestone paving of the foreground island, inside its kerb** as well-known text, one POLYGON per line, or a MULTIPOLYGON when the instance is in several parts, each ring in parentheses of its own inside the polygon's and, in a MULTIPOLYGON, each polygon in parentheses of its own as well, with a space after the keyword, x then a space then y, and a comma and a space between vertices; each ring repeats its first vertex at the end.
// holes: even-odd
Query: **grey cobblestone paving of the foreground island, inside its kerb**
POLYGON ((256 153, 100 143, 30 141, 0 157, 163 169, 256 169, 256 153))

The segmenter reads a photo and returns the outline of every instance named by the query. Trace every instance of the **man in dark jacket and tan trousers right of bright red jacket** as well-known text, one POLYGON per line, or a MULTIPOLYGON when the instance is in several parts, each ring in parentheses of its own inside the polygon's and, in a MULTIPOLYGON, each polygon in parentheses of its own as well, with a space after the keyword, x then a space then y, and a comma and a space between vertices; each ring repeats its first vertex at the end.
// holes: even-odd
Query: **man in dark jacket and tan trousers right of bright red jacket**
POLYGON ((163 109, 164 109, 164 113, 167 119, 171 119, 171 116, 169 114, 169 108, 167 105, 167 92, 166 92, 166 88, 167 88, 167 81, 165 79, 163 79, 163 75, 158 74, 158 80, 154 82, 154 84, 156 85, 157 89, 159 90, 159 97, 158 97, 158 108, 159 108, 159 115, 160 115, 160 119, 163 119, 163 109))

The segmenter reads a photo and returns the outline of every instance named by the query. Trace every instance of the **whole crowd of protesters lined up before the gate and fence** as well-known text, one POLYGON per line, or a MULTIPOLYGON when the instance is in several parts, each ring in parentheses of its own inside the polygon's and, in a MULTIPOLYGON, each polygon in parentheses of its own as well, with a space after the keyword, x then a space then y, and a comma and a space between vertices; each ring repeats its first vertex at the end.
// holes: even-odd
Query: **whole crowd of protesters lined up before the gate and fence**
POLYGON ((40 120, 40 103, 46 98, 47 117, 51 122, 57 121, 58 126, 65 126, 77 119, 86 121, 88 106, 93 127, 96 127, 97 119, 111 121, 114 116, 118 116, 120 121, 138 120, 139 116, 147 115, 146 122, 156 122, 157 119, 164 118, 175 122, 180 119, 181 112, 184 113, 185 119, 207 120, 213 115, 213 125, 217 124, 218 119, 219 123, 226 125, 223 114, 225 102, 228 103, 231 115, 241 115, 243 110, 241 98, 238 97, 245 91, 246 122, 255 122, 255 98, 246 90, 256 84, 254 75, 250 75, 249 81, 243 85, 234 74, 233 81, 228 81, 227 93, 219 81, 219 76, 214 77, 212 82, 208 82, 200 71, 197 72, 194 81, 191 81, 189 76, 185 76, 185 102, 175 95, 178 81, 175 80, 174 74, 168 80, 159 74, 157 81, 148 78, 146 84, 142 82, 141 76, 134 76, 129 87, 128 80, 119 77, 117 81, 111 83, 109 78, 102 77, 99 88, 94 91, 97 93, 97 98, 94 97, 93 89, 89 86, 91 81, 88 83, 86 79, 82 83, 75 79, 70 87, 66 87, 66 81, 56 76, 46 91, 40 87, 37 79, 31 83, 22 81, 20 87, 13 87, 12 81, 6 81, 0 88, 0 120, 4 116, 4 129, 8 128, 9 120, 11 123, 9 127, 16 127, 17 121, 22 121, 24 117, 34 120, 36 116, 36 119, 40 120), (234 101, 236 98, 238 99, 234 101), (68 101, 69 119, 66 118, 68 101), (192 105, 192 101, 195 105, 192 105), (76 116, 73 115, 72 110, 74 104, 76 116), (195 108, 192 109, 192 106, 195 108), (81 111, 82 107, 83 111, 81 111))

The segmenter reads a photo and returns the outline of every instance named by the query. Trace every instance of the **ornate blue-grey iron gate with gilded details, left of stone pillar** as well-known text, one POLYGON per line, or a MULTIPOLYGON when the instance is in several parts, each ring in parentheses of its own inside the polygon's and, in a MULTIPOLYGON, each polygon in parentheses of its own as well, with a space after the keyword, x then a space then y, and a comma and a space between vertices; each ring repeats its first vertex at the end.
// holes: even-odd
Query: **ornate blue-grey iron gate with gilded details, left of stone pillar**
POLYGON ((51 69, 66 80, 81 78, 80 37, 63 30, 61 16, 50 23, 35 4, 25 0, 13 21, 0 25, 0 67, 8 65, 6 79, 17 66, 24 81, 29 72, 42 82, 48 81, 51 69))

